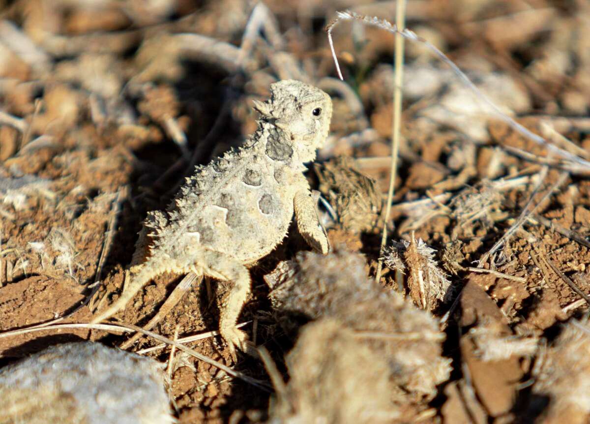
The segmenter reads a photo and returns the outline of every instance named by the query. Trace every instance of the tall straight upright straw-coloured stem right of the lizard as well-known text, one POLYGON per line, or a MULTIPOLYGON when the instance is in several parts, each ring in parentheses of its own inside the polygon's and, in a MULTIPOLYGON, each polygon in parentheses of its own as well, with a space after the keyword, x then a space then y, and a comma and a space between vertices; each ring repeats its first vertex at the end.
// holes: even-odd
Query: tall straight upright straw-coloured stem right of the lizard
MULTIPOLYGON (((395 25, 397 28, 404 30, 405 27, 405 0, 398 0, 395 3, 395 25)), ((404 82, 404 37, 399 32, 395 34, 395 90, 394 90, 394 117, 391 132, 391 168, 389 175, 389 190, 387 192, 387 201, 385 204, 385 215, 383 216, 383 233, 381 234, 381 247, 379 247, 379 260, 377 263, 377 272, 375 281, 381 279, 383 269, 383 249, 387 243, 387 223, 391 213, 391 201, 394 198, 395 177, 398 169, 398 151, 399 151, 399 127, 402 116, 402 83, 404 82)))

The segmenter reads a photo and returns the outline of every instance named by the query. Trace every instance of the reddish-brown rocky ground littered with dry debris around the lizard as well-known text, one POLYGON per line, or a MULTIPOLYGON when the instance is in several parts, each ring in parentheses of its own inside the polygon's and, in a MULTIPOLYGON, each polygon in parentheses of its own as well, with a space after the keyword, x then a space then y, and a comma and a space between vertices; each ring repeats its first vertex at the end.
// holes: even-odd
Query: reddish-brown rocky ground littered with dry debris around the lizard
MULTIPOLYGON (((0 6, 0 365, 144 326, 183 276, 156 278, 113 328, 71 324, 119 295, 146 213, 240 145, 270 83, 298 79, 333 98, 307 175, 335 253, 292 228, 251 268, 240 321, 263 361, 187 344, 254 380, 153 337, 126 346, 168 363, 179 422, 586 422, 588 2, 408 1, 407 27, 522 128, 407 42, 387 218, 395 36, 339 22, 340 81, 324 27, 346 9, 394 22, 395 2, 0 6)), ((217 329, 226 290, 192 288, 152 331, 217 329)))

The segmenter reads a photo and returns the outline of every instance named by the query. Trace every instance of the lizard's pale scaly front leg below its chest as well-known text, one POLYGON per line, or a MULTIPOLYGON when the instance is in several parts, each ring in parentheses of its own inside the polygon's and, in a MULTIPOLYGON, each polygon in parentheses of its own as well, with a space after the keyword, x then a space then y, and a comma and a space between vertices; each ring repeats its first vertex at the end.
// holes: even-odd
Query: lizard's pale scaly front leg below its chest
POLYGON ((330 243, 320 224, 316 206, 317 199, 314 200, 309 189, 297 191, 293 199, 297 229, 307 244, 322 255, 327 255, 330 252, 330 243))

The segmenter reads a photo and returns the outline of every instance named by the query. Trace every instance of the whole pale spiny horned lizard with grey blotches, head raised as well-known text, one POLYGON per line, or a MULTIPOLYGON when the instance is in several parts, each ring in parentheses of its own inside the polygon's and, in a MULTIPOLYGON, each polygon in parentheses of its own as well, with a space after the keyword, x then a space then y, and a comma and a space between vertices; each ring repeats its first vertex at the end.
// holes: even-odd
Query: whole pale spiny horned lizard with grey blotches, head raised
POLYGON ((303 172, 326 141, 332 101, 322 90, 294 80, 271 84, 270 91, 267 102, 254 100, 261 116, 244 145, 197 167, 166 211, 148 214, 122 295, 93 322, 122 309, 161 273, 194 272, 233 283, 219 332, 232 355, 235 347, 253 351, 247 335, 235 327, 250 292, 247 265, 281 243, 293 214, 306 242, 323 254, 329 250, 303 172))

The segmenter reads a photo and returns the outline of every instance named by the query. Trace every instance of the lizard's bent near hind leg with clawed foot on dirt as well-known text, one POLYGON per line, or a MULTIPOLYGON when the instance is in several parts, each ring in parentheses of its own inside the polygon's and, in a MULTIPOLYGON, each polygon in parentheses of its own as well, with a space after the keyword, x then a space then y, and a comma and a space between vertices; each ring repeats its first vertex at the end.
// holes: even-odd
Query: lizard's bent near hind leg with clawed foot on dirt
POLYGON ((252 356, 257 356, 254 345, 248 341, 244 331, 235 326, 248 293, 251 290, 250 271, 238 260, 224 253, 206 251, 199 264, 205 275, 222 281, 230 281, 230 293, 224 299, 219 312, 219 334, 230 347, 232 357, 236 358, 235 348, 252 356))

